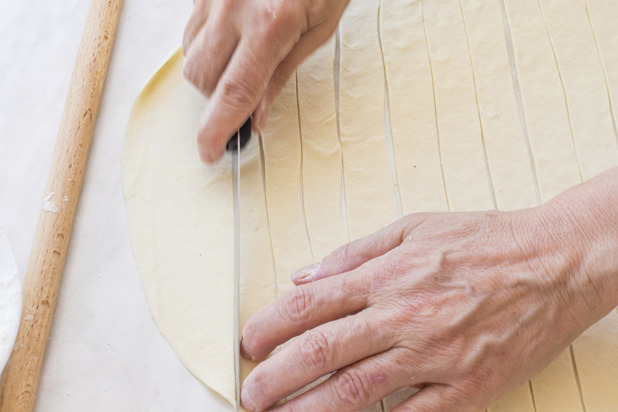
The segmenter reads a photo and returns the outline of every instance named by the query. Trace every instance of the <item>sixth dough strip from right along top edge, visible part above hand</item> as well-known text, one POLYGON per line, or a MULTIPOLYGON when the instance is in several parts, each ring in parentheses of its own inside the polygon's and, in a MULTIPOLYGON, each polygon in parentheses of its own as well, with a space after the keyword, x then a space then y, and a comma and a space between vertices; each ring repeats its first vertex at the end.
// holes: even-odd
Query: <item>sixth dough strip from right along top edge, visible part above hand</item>
POLYGON ((447 211, 422 3, 384 1, 380 34, 403 213, 447 211))

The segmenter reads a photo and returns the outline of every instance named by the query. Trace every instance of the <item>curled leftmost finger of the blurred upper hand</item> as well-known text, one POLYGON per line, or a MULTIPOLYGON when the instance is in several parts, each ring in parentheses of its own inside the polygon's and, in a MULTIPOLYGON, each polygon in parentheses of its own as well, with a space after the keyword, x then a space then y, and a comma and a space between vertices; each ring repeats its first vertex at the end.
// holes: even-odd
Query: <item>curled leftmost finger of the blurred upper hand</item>
POLYGON ((204 95, 210 96, 228 65, 240 35, 225 20, 212 17, 195 38, 183 73, 204 95))

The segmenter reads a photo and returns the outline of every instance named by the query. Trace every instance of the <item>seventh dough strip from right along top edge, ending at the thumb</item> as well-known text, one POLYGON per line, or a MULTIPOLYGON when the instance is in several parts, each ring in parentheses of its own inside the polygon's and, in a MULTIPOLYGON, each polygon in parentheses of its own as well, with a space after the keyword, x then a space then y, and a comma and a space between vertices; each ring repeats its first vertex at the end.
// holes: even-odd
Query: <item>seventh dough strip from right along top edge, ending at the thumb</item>
POLYGON ((350 238, 397 219, 384 134, 384 68, 378 1, 352 0, 341 19, 339 127, 350 238))

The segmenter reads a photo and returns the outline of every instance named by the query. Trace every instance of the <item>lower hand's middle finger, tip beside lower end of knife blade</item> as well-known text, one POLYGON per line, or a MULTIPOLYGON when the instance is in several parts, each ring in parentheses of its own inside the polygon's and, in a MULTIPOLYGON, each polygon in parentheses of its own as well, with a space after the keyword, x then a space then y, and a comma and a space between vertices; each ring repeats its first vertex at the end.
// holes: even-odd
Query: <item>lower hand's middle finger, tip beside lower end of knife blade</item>
POLYGON ((390 349, 394 342, 374 319, 363 311, 299 336, 253 370, 243 384, 243 399, 266 408, 327 373, 390 349))

